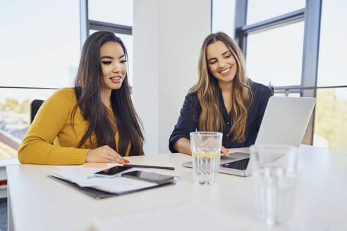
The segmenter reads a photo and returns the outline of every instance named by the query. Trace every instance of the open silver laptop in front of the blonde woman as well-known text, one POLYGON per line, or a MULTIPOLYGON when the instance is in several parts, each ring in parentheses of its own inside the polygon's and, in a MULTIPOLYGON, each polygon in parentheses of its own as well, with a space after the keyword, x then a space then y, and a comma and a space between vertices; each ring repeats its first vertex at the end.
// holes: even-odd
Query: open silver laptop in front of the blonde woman
MULTIPOLYGON (((267 102, 260 129, 255 139, 259 144, 286 144, 299 146, 303 140, 316 99, 309 97, 271 96, 267 102)), ((249 176, 250 154, 248 149, 221 156, 219 173, 249 176)), ((193 168, 192 161, 182 164, 193 168)))

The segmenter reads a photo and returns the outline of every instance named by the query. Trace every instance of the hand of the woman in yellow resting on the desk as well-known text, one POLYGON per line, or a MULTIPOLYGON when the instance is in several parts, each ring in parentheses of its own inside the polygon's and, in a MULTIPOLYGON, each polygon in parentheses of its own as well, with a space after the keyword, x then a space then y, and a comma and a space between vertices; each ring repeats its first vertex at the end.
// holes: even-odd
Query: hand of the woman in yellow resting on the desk
POLYGON ((104 145, 88 151, 85 163, 129 163, 123 156, 119 155, 114 149, 104 145))

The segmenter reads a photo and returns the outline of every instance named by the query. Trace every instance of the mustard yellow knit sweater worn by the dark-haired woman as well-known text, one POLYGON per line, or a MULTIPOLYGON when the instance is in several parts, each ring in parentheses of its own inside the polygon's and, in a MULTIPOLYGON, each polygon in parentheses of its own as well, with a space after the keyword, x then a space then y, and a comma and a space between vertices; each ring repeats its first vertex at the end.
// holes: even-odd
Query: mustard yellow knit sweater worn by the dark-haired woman
MULTIPOLYGON (((73 119, 75 132, 73 131, 71 116, 76 103, 74 89, 63 88, 42 104, 20 145, 18 151, 20 163, 51 165, 85 163, 85 157, 92 145, 86 141, 78 148, 78 144, 85 135, 89 123, 78 108, 73 119)), ((118 147, 118 132, 115 140, 118 147)), ((129 152, 130 144, 125 156, 128 156, 129 152)))

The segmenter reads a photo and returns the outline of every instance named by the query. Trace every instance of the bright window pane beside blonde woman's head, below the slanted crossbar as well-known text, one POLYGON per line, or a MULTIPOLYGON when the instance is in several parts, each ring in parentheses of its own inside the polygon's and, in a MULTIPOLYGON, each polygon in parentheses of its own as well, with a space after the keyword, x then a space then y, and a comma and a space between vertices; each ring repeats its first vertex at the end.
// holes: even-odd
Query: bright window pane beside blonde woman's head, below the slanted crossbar
POLYGON ((274 86, 301 84, 304 22, 248 35, 250 79, 274 86))

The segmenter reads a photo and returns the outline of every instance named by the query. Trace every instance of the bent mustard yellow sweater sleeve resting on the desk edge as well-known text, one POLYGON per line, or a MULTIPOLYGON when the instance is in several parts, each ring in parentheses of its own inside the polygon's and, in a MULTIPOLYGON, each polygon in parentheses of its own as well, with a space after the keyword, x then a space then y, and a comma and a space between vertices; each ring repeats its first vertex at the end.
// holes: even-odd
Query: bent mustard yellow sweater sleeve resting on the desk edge
POLYGON ((75 106, 76 100, 73 97, 75 95, 71 94, 71 89, 70 92, 68 89, 60 89, 42 104, 18 150, 20 163, 51 165, 85 163, 85 157, 90 149, 52 145, 75 106))

